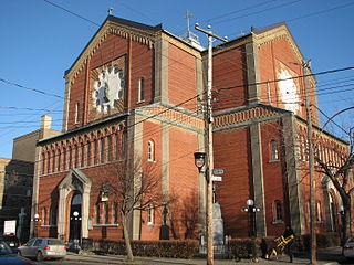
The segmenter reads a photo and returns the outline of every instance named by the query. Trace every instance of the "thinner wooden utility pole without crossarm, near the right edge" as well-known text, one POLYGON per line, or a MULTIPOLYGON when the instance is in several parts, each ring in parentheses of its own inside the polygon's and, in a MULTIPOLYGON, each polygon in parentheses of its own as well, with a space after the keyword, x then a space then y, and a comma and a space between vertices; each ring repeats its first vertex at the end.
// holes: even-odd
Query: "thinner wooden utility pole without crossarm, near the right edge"
POLYGON ((312 116, 310 108, 310 97, 309 91, 306 87, 306 73, 305 71, 310 68, 310 61, 302 62, 302 75, 303 75, 303 87, 305 91, 305 107, 306 107, 306 116, 308 116, 308 148, 309 148, 309 173, 310 173, 310 239, 311 239, 311 261, 310 264, 315 265, 316 261, 316 232, 315 232, 315 179, 314 179, 314 155, 313 155, 313 145, 312 145, 312 116))

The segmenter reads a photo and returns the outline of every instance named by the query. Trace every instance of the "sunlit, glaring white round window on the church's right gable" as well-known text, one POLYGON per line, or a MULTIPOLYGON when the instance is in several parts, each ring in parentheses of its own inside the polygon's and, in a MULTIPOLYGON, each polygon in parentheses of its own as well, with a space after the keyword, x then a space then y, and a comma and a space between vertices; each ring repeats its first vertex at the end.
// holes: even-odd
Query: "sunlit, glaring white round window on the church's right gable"
POLYGON ((278 87, 280 91, 280 97, 284 104, 284 108, 295 114, 300 110, 300 97, 298 93, 298 85, 293 80, 293 76, 285 68, 281 68, 278 72, 278 87))

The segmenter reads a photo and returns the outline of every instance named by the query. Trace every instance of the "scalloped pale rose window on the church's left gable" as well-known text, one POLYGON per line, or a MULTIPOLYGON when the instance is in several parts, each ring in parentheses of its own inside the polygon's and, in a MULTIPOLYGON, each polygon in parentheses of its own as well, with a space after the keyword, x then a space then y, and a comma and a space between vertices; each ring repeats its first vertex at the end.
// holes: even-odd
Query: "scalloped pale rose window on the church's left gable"
POLYGON ((101 68, 98 78, 93 84, 93 105, 98 113, 110 113, 123 99, 125 87, 124 70, 118 64, 101 68))

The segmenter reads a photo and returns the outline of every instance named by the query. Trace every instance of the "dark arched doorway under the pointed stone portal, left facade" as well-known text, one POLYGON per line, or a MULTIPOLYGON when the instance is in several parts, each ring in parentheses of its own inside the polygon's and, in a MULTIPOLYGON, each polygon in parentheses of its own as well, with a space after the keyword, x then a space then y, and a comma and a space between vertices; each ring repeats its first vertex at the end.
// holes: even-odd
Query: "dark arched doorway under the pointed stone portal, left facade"
POLYGON ((70 204, 70 233, 69 241, 79 243, 81 239, 81 208, 82 194, 76 192, 70 204))

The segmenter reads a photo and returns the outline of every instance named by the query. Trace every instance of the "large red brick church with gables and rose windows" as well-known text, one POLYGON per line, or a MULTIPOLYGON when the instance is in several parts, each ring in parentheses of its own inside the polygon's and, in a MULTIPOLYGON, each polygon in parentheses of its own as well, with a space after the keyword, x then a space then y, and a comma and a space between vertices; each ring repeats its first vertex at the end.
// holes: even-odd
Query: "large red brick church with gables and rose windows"
MULTIPOLYGON (((166 197, 178 194, 178 203, 168 205, 170 236, 196 239, 205 232, 206 181, 194 152, 205 149, 198 109, 207 52, 194 42, 162 25, 105 20, 65 72, 63 134, 38 142, 32 216, 40 215, 39 235, 122 239, 119 205, 98 186, 114 179, 112 169, 129 150, 158 169, 166 197), (73 210, 77 231, 71 227, 73 210)), ((214 51, 215 167, 225 169, 216 198, 227 235, 279 235, 285 222, 299 234, 309 232, 303 78, 292 78, 303 73, 290 63, 302 61, 283 23, 254 29, 214 51), (241 212, 248 199, 260 208, 254 227, 241 212)), ((308 87, 315 104, 313 77, 308 87)), ((315 109, 313 120, 316 126, 315 109)), ((329 134, 321 137, 346 148, 329 134)), ((336 230, 336 192, 327 187, 316 195, 319 230, 336 230)), ((158 240, 162 224, 162 209, 136 211, 129 232, 135 240, 158 240)))

